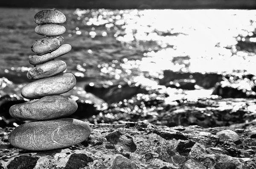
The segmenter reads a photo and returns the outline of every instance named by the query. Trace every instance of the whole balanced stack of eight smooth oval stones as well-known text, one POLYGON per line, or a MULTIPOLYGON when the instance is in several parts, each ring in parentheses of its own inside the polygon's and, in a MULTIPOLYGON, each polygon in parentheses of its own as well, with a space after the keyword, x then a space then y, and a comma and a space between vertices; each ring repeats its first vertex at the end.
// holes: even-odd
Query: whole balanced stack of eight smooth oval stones
POLYGON ((54 60, 67 54, 71 45, 64 44, 60 35, 66 29, 60 25, 66 17, 60 11, 45 9, 34 17, 38 26, 35 32, 44 35, 36 40, 31 50, 36 55, 29 58, 35 67, 27 77, 37 79, 23 87, 21 95, 31 101, 12 106, 9 113, 20 121, 30 121, 16 127, 9 134, 13 146, 34 151, 60 149, 85 141, 90 135, 90 126, 73 118, 63 118, 77 110, 73 99, 61 94, 73 89, 76 78, 72 73, 63 73, 67 65, 64 61, 54 60))

